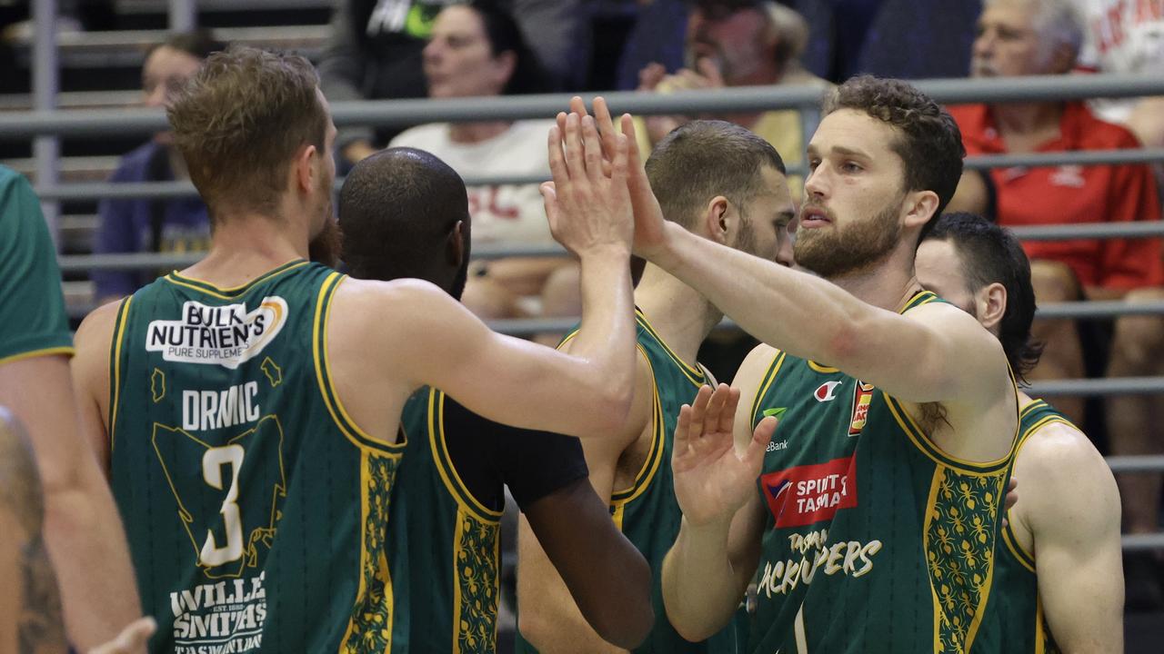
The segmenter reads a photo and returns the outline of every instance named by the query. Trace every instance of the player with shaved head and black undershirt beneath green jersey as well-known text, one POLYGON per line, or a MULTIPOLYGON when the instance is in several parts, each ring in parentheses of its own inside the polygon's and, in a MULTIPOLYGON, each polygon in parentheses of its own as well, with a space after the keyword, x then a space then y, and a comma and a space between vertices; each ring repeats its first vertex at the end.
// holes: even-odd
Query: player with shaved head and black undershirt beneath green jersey
MULTIPOLYGON (((371 155, 345 179, 339 212, 353 277, 416 277, 460 299, 471 221, 445 162, 412 148, 371 155)), ((611 642, 643 641, 651 571, 587 482, 579 439, 499 425, 436 389, 410 398, 402 421, 390 556, 395 623, 412 652, 496 649, 506 485, 588 623, 611 642)))

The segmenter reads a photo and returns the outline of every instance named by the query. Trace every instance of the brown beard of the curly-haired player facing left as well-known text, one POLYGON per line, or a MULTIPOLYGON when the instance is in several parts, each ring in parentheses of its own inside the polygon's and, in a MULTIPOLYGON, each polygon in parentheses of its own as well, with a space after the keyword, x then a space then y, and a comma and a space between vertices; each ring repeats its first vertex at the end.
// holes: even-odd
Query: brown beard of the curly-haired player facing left
POLYGON ((899 211, 900 204, 894 202, 872 219, 832 230, 799 227, 793 256, 797 264, 825 279, 868 269, 897 246, 899 211))

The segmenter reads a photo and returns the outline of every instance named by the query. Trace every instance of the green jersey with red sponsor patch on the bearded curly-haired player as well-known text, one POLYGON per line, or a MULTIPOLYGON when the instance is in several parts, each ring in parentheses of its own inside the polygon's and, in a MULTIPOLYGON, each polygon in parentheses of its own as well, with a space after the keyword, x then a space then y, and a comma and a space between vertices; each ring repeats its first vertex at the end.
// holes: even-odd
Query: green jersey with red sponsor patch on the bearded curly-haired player
MULTIPOLYGON (((941 301, 918 293, 902 308, 941 301)), ((766 525, 748 651, 1001 652, 980 630, 1012 457, 944 454, 874 385, 778 353, 753 426, 787 408, 765 454, 766 525)))

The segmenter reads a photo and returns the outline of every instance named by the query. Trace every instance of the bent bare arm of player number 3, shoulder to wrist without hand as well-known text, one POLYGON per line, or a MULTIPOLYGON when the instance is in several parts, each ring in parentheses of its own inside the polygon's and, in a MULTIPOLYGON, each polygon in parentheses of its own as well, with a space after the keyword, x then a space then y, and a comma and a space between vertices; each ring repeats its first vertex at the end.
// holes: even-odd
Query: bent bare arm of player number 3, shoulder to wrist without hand
MULTIPOLYGON (((346 280, 333 303, 346 318, 328 327, 328 354, 364 386, 381 378, 406 397, 428 384, 490 420, 589 438, 622 427, 630 408, 634 314, 625 250, 582 261, 582 300, 579 342, 565 354, 489 330, 431 284, 346 280), (378 334, 382 346, 369 350, 360 333, 378 334)), ((386 427, 383 397, 345 391, 357 424, 386 427)))

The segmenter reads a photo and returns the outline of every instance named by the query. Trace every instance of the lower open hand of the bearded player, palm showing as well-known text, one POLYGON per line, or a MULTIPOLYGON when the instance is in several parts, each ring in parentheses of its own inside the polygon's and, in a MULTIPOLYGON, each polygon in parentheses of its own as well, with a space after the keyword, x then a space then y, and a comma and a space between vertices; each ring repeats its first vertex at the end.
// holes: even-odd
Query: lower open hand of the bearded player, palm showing
POLYGON ((732 428, 738 403, 739 391, 719 384, 715 391, 703 386, 695 401, 680 410, 670 465, 675 499, 691 526, 730 520, 755 492, 776 419, 761 420, 747 449, 737 454, 732 428))

